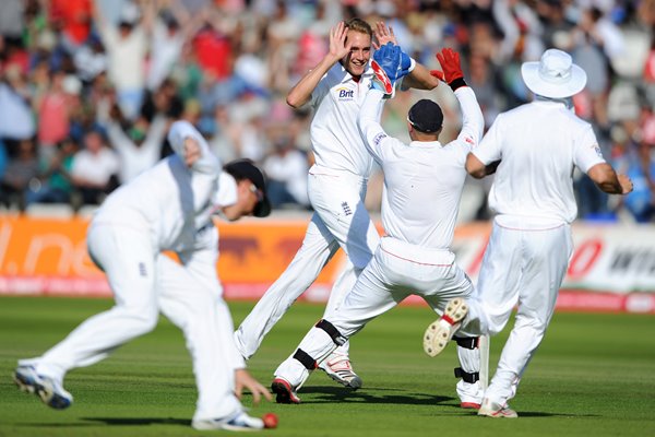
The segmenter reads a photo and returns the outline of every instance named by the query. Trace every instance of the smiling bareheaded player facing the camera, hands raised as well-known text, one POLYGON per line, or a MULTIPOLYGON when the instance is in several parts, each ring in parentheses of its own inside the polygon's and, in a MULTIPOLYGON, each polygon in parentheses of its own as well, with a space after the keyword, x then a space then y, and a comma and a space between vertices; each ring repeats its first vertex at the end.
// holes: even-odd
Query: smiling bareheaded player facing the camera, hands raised
MULTIPOLYGON (((380 241, 364 205, 373 160, 357 128, 357 115, 372 78, 369 68, 372 35, 371 26, 362 20, 338 23, 330 32, 327 55, 287 95, 290 106, 309 104, 314 109, 310 135, 315 164, 308 179, 314 213, 290 264, 235 332, 237 349, 247 359, 340 247, 349 263, 334 284, 325 315, 338 307, 380 241)), ((393 31, 383 23, 377 24, 376 37, 381 45, 395 42, 393 31)), ((431 90, 439 83, 406 55, 400 68, 408 73, 404 87, 431 90)), ((361 387, 347 344, 322 361, 320 368, 345 387, 361 387)))

